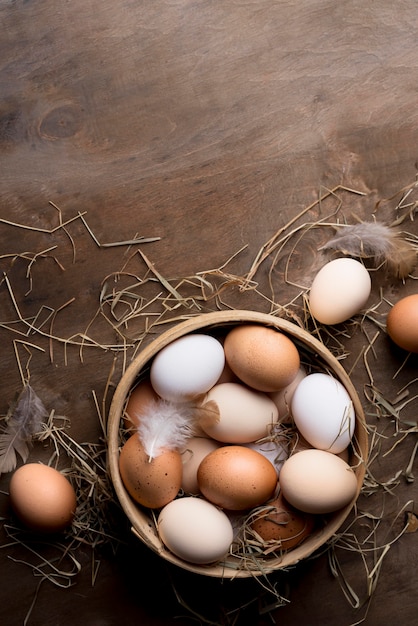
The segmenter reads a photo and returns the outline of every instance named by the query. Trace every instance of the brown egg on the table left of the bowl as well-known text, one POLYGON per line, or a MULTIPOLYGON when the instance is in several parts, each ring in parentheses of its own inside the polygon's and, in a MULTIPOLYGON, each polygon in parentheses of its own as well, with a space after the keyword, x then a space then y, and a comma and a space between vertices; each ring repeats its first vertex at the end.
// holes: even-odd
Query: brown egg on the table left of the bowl
POLYGON ((10 503, 16 516, 31 530, 59 532, 71 525, 77 499, 69 480, 41 463, 27 463, 10 480, 10 503))

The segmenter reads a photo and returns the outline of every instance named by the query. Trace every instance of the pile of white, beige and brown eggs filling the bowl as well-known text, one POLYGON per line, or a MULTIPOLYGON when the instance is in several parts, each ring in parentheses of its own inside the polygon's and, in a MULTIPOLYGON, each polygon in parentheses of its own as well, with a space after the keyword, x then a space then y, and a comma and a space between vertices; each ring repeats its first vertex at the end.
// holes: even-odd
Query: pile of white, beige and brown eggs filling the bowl
POLYGON ((285 333, 258 323, 193 332, 157 352, 130 392, 119 472, 180 559, 216 563, 248 537, 280 552, 356 497, 355 420, 341 382, 308 371, 285 333), (189 419, 181 441, 176 411, 189 419), (141 424, 152 412, 167 432, 151 457, 141 424))

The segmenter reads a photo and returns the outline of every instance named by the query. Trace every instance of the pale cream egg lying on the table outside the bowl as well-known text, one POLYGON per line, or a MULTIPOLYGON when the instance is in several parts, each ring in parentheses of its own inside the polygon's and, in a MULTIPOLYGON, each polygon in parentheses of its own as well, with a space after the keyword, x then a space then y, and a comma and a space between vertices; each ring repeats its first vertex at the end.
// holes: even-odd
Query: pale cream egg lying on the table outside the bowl
POLYGON ((360 261, 334 259, 316 274, 309 292, 309 309, 322 324, 340 324, 361 311, 370 292, 370 274, 360 261))

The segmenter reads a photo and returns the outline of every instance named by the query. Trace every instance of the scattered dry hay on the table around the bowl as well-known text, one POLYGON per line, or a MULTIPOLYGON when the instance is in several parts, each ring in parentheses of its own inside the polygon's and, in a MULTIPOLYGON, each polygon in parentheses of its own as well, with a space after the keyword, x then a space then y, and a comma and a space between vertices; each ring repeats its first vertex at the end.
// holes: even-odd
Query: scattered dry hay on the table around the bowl
MULTIPOLYGON (((389 206, 394 216, 390 226, 401 226, 407 220, 413 222, 418 208, 418 200, 414 198, 417 195, 417 187, 418 183, 414 182, 393 198, 379 201, 375 205, 373 215, 378 215, 383 208, 386 209, 389 206), (392 208, 394 203, 395 206, 392 208)), ((307 298, 312 276, 326 258, 324 256, 325 250, 319 252, 324 243, 324 238, 326 239, 331 231, 335 231, 336 228, 347 223, 344 209, 347 203, 350 205, 352 197, 361 198, 365 195, 364 192, 343 186, 337 186, 331 190, 321 189, 315 202, 303 209, 287 224, 281 226, 262 246, 243 275, 235 273, 231 266, 237 261, 243 263, 242 253, 246 247, 231 255, 217 268, 198 271, 195 275, 187 277, 165 277, 158 270, 157 264, 152 262, 140 247, 142 244, 158 241, 159 237, 146 238, 135 235, 134 238, 126 241, 101 243, 89 227, 85 213, 79 212, 72 218, 63 220, 60 209, 53 203, 51 205, 58 212, 58 224, 51 229, 35 228, 8 220, 0 220, 9 227, 37 231, 51 237, 58 231, 64 232, 72 248, 73 260, 76 258, 76 242, 70 233, 70 227, 76 221, 84 226, 99 248, 125 246, 129 250, 133 249, 123 266, 106 276, 101 287, 98 287, 98 308, 87 327, 70 337, 58 336, 54 332, 54 322, 58 315, 71 310, 73 300, 63 303, 56 309, 42 307, 34 317, 27 318, 22 313, 8 273, 3 274, 2 282, 6 286, 16 317, 8 321, 0 321, 0 327, 10 332, 13 337, 13 346, 22 382, 28 381, 30 378, 31 359, 37 352, 45 351, 41 342, 37 343, 37 339, 46 339, 49 342, 51 362, 54 361, 54 346, 56 345, 63 347, 66 362, 68 358, 67 349, 70 346, 78 348, 81 361, 86 349, 104 351, 111 354, 113 359, 103 399, 99 401, 93 392, 102 430, 100 441, 94 444, 75 441, 68 433, 66 418, 55 415, 53 411, 44 424, 42 432, 37 435, 39 443, 48 443, 51 446, 52 453, 49 461, 51 465, 58 465, 62 457, 65 458, 65 465, 67 466, 65 473, 75 486, 78 495, 79 507, 71 529, 62 543, 55 542, 52 546, 58 552, 58 556, 55 555, 50 560, 46 560, 43 550, 36 551, 27 541, 27 535, 24 531, 11 523, 4 524, 8 541, 0 547, 2 549, 9 549, 15 545, 23 547, 28 555, 35 556, 35 560, 29 561, 28 558, 25 564, 32 568, 34 575, 40 577, 26 621, 36 602, 39 587, 43 581, 49 581, 62 587, 73 584, 81 568, 81 563, 77 559, 77 548, 80 545, 90 546, 92 549, 92 584, 94 584, 100 564, 100 561, 96 560, 96 551, 104 545, 110 546, 112 550, 116 551, 120 541, 123 540, 123 534, 116 536, 115 528, 112 525, 114 519, 112 511, 118 508, 118 503, 106 463, 108 394, 117 355, 122 354, 122 370, 125 371, 144 343, 149 341, 153 335, 160 333, 162 329, 206 311, 237 308, 237 301, 241 303, 240 308, 245 308, 246 294, 250 295, 250 308, 259 308, 259 310, 272 315, 290 318, 301 328, 316 336, 338 360, 347 362, 350 375, 355 375, 361 367, 365 370, 366 378, 369 381, 364 387, 364 397, 366 415, 370 418, 368 426, 370 451, 366 463, 367 471, 361 493, 361 503, 360 501, 357 503, 345 527, 324 546, 323 551, 328 554, 331 572, 341 586, 349 604, 354 608, 366 607, 367 614, 367 603, 376 589, 379 573, 390 547, 405 533, 415 532, 417 528, 413 503, 408 501, 400 507, 391 525, 392 529, 392 526, 404 516, 405 522, 401 528, 389 539, 382 537, 379 533, 388 514, 382 507, 380 516, 371 515, 367 511, 367 501, 378 495, 394 494, 402 481, 406 480, 412 483, 414 480, 412 467, 417 453, 417 444, 415 444, 412 452, 408 453, 405 466, 392 468, 392 476, 379 477, 375 465, 378 460, 387 458, 399 446, 409 442, 410 436, 417 432, 416 419, 414 421, 411 418, 408 407, 418 396, 418 391, 414 392, 418 379, 413 379, 404 384, 394 401, 385 398, 375 380, 371 361, 377 358, 377 346, 385 335, 385 326, 382 320, 384 320, 385 313, 391 306, 385 297, 384 287, 381 291, 380 301, 373 304, 363 316, 353 318, 338 327, 318 325, 310 315, 307 298), (308 244, 306 244, 307 241, 308 244), (300 265, 300 250, 305 245, 311 246, 315 257, 315 263, 311 264, 308 269, 303 264, 300 265), (279 279, 284 281, 288 288, 289 298, 287 302, 277 302, 275 286, 279 279), (104 338, 103 341, 93 338, 93 329, 99 318, 105 320, 109 329, 109 337, 104 338), (359 336, 364 338, 363 345, 358 354, 352 354, 350 352, 351 340, 359 336), (22 364, 22 350, 23 356, 26 358, 25 364, 22 364), (368 529, 366 533, 365 527, 368 529), (355 590, 354 585, 347 580, 339 558, 341 551, 350 551, 358 555, 365 574, 365 592, 363 594, 355 590)), ((418 237, 416 235, 406 233, 405 239, 415 250, 418 250, 418 237)), ((46 258, 52 258, 60 270, 64 271, 57 257, 53 255, 55 250, 56 245, 51 245, 38 252, 6 255, 11 266, 17 260, 27 263, 26 277, 29 281, 29 287, 25 295, 32 292, 33 289, 31 271, 35 263, 46 258)), ((6 259, 6 256, 0 258, 6 259)), ((379 269, 381 268, 378 268, 377 271, 379 269)), ((412 274, 409 275, 411 280, 416 278, 412 274)), ((405 359, 400 370, 394 374, 394 378, 399 375, 406 364, 407 359, 405 359)), ((248 546, 245 550, 245 566, 251 569, 249 560, 253 560, 254 569, 260 570, 260 563, 262 563, 260 546, 255 542, 251 546, 252 553, 250 555, 248 554, 248 546)), ((317 556, 313 555, 311 558, 317 556)), ((239 555, 237 559, 239 561, 239 555)), ((238 563, 237 568, 239 567, 242 567, 242 564, 238 563)), ((264 586, 269 595, 271 594, 270 598, 273 598, 270 602, 265 603, 262 609, 263 613, 268 614, 278 606, 288 602, 286 597, 277 591, 274 581, 269 578, 267 573, 266 576, 260 577, 260 584, 262 587, 264 586)), ((179 604, 190 609, 190 612, 197 619, 205 623, 203 616, 187 607, 174 582, 173 589, 179 604)), ((232 613, 235 614, 234 611, 232 613)), ((364 619, 365 617, 357 623, 361 623, 364 619)), ((223 623, 230 624, 233 621, 229 617, 225 617, 223 623)))

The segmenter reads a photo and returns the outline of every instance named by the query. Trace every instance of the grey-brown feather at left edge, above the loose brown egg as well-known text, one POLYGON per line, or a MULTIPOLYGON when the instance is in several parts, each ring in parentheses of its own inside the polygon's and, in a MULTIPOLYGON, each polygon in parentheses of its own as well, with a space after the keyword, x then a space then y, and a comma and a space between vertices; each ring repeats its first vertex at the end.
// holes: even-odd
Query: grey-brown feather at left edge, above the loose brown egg
POLYGON ((0 433, 0 474, 16 468, 18 454, 23 462, 27 460, 33 435, 40 432, 47 415, 42 400, 29 384, 25 385, 0 433))

